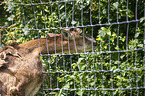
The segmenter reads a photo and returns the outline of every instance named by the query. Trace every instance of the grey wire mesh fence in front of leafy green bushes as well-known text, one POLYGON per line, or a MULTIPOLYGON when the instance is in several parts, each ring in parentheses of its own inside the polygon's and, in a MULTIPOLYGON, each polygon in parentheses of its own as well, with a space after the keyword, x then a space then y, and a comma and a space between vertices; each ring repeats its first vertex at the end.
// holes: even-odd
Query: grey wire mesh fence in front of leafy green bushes
POLYGON ((144 0, 2 3, 9 15, 7 24, 0 26, 1 46, 3 42, 22 43, 54 33, 54 44, 48 44, 47 54, 40 54, 44 83, 38 96, 145 95, 144 0), (69 29, 67 49, 62 38, 64 29, 69 29), (70 39, 70 32, 78 30, 81 40, 75 34, 70 39), (53 51, 49 51, 52 46, 53 51))

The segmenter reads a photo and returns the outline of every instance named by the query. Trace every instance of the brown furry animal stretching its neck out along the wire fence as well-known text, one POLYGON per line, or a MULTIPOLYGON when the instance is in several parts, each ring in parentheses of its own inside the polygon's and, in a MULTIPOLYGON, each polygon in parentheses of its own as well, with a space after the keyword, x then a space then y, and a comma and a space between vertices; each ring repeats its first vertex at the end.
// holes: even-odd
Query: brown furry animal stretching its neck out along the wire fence
MULTIPOLYGON (((23 44, 12 43, 2 48, 0 53, 0 96, 34 96, 43 80, 40 52, 41 54, 54 54, 56 45, 56 52, 61 53, 62 43, 65 53, 69 53, 69 50, 76 52, 75 46, 77 52, 82 52, 83 37, 79 34, 79 32, 70 32, 69 45, 68 37, 64 37, 64 34, 62 38, 60 34, 51 33, 47 39, 31 40, 23 44), (63 41, 61 41, 62 39, 63 41)), ((85 39, 85 43, 85 48, 91 50, 91 41, 85 39)))

